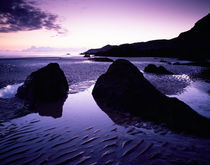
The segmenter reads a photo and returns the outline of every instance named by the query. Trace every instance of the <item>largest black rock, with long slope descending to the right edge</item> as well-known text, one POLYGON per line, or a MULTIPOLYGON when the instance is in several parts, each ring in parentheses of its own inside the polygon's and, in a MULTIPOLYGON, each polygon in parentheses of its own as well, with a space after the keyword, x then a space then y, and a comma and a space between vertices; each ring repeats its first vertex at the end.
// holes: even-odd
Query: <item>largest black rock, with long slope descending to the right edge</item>
POLYGON ((210 120, 193 111, 177 98, 159 92, 136 66, 127 60, 116 60, 101 75, 93 97, 108 113, 130 112, 143 120, 165 123, 176 131, 210 136, 210 120))

